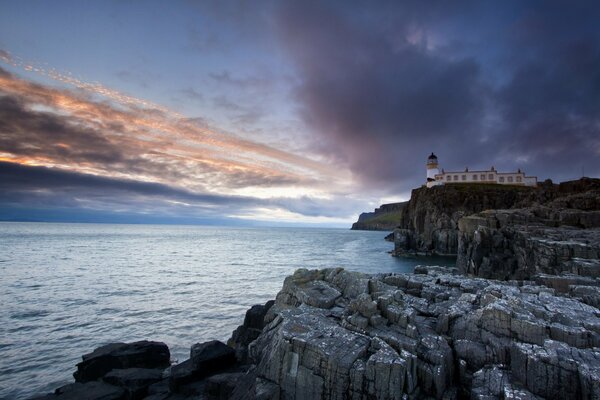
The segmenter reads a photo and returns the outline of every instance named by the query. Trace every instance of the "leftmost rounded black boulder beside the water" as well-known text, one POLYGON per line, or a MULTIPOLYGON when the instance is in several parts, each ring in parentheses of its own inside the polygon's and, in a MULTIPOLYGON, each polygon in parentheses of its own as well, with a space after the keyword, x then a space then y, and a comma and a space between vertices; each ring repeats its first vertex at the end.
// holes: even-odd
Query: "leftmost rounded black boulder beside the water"
POLYGON ((170 352, 161 342, 140 341, 111 343, 86 354, 73 374, 77 382, 89 382, 103 377, 112 369, 166 368, 170 352))

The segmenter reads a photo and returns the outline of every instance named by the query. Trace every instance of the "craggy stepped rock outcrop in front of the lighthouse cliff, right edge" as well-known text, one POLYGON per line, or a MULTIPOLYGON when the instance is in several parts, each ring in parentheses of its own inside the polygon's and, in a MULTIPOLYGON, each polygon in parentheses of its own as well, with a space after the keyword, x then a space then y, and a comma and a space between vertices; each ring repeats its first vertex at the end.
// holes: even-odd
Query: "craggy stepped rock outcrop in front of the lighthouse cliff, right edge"
POLYGON ((457 267, 488 279, 547 279, 549 287, 563 292, 570 284, 600 285, 600 228, 561 226, 544 218, 548 213, 493 210, 462 218, 457 267), (472 222, 482 220, 485 226, 472 222), (552 277, 536 278, 547 275, 552 277))

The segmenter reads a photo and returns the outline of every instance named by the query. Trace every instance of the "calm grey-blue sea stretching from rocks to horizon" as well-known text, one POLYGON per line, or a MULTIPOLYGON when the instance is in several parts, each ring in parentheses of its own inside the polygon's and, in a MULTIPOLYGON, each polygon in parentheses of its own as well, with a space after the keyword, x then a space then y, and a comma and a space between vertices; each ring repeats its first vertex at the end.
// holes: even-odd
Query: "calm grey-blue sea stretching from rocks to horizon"
POLYGON ((297 268, 412 272, 386 232, 312 228, 0 223, 0 399, 73 381, 81 355, 158 340, 183 361, 227 340, 297 268))

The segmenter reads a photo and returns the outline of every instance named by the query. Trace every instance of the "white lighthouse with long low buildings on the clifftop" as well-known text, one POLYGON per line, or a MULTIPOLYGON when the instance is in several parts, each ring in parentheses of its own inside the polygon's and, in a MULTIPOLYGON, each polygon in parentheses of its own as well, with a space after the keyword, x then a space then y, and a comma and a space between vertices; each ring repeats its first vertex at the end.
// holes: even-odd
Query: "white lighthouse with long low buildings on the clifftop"
POLYGON ((427 187, 449 183, 497 183, 499 185, 536 186, 537 177, 525 176, 520 169, 517 172, 498 172, 494 167, 488 171, 440 172, 435 154, 427 158, 427 187))

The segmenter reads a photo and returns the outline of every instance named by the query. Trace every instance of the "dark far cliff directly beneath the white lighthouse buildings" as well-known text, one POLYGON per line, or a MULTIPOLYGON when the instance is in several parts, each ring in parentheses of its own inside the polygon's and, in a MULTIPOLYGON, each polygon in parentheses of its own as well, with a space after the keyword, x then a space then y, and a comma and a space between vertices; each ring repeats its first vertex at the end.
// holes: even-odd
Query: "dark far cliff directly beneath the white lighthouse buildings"
MULTIPOLYGON (((536 188, 453 184, 414 189, 402 210, 400 227, 394 232, 395 253, 457 255, 458 221, 485 210, 538 205, 547 205, 553 210, 588 210, 590 207, 600 210, 591 196, 585 196, 599 187, 600 180, 582 178, 560 185, 544 182, 536 188)), ((566 213, 563 216, 569 218, 566 213)))

